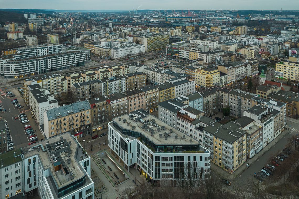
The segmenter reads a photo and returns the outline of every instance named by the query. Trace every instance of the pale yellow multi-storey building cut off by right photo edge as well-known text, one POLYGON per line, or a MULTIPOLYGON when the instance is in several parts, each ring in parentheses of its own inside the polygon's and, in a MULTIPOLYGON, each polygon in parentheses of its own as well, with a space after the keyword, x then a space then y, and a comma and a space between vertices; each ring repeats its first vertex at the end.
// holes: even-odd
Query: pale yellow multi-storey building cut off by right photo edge
POLYGON ((275 77, 280 79, 299 80, 299 63, 284 60, 275 64, 275 77))

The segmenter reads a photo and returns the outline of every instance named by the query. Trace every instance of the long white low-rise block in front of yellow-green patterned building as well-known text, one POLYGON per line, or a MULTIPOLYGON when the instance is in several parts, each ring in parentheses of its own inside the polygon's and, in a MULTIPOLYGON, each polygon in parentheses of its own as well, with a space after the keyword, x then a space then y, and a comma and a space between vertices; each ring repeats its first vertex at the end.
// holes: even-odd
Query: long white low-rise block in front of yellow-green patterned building
POLYGON ((124 46, 120 48, 111 49, 111 58, 112 59, 121 59, 134 55, 143 55, 144 54, 144 45, 136 44, 130 46, 124 46))

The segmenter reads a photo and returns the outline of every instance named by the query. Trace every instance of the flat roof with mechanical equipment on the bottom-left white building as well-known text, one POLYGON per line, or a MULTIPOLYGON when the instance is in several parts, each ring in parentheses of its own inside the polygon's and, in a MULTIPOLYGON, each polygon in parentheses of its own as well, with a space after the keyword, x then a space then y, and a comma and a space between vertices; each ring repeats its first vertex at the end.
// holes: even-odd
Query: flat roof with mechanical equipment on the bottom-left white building
MULTIPOLYGON (((54 136, 26 146, 22 148, 22 151, 25 158, 38 155, 42 161, 43 168, 50 170, 58 188, 60 188, 75 182, 85 175, 85 170, 79 163, 79 160, 81 161, 80 156, 82 155, 82 151, 79 150, 81 148, 78 146, 79 144, 74 136, 70 133, 63 133, 59 136, 54 136), (78 152, 76 153, 77 150, 78 152), (64 175, 61 174, 61 172, 54 171, 54 166, 60 164, 63 168, 67 168, 67 174, 64 175)), ((83 155, 83 158, 84 157, 83 155)))

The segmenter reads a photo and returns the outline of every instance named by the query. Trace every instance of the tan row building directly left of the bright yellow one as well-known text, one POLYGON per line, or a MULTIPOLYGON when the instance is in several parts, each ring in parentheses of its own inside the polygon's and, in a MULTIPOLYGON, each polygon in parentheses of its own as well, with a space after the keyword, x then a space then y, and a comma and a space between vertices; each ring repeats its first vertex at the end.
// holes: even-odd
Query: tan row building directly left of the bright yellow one
POLYGON ((152 113, 157 111, 159 104, 159 89, 155 85, 147 85, 139 88, 144 92, 144 107, 143 109, 152 113))

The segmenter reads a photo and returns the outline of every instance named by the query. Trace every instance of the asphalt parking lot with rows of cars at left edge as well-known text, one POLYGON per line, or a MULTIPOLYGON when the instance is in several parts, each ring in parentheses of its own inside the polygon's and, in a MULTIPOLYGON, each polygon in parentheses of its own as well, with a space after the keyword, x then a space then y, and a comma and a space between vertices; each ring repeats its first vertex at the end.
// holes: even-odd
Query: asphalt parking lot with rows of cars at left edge
POLYGON ((0 105, 1 108, 4 110, 6 109, 5 112, 1 111, 1 116, 3 117, 4 120, 7 121, 7 126, 9 128, 10 136, 12 139, 12 142, 14 143, 14 148, 18 149, 20 147, 27 146, 29 143, 29 138, 25 133, 25 125, 30 124, 32 126, 32 130, 36 132, 35 134, 37 137, 43 138, 40 134, 40 131, 38 130, 36 123, 34 122, 33 118, 31 118, 31 113, 28 107, 25 105, 24 100, 22 99, 22 95, 17 89, 10 89, 10 92, 15 94, 14 97, 5 97, 7 90, 5 88, 0 89, 0 105), (17 99, 19 105, 22 108, 16 108, 12 100, 17 99), (22 124, 20 119, 19 119, 19 114, 25 113, 26 117, 28 118, 29 122, 22 124))

